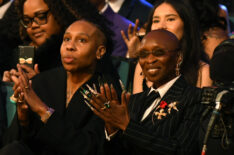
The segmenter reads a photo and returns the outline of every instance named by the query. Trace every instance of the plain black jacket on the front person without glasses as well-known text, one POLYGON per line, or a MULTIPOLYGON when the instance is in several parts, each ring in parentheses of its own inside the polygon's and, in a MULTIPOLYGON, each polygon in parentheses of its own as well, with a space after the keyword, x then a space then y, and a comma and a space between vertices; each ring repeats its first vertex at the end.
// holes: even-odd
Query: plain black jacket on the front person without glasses
MULTIPOLYGON (((98 87, 98 77, 99 75, 95 74, 83 86, 93 86, 95 83, 98 87)), ((105 76, 105 80, 114 83, 109 77, 105 76)), ((68 107, 65 107, 66 83, 66 71, 63 68, 45 71, 33 79, 36 94, 49 107, 55 109, 55 112, 46 124, 32 114, 29 129, 19 127, 20 133, 17 138, 36 154, 98 154, 105 140, 104 122, 84 103, 79 92, 81 89, 74 94, 68 107)))

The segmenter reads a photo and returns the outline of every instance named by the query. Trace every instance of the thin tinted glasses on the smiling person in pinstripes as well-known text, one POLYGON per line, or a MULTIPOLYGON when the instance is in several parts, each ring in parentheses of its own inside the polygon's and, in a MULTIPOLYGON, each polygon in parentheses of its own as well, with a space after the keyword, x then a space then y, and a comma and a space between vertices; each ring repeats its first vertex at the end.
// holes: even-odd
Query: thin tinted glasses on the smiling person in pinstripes
MULTIPOLYGON (((178 51, 178 50, 179 49, 175 49, 175 50, 168 51, 168 52, 173 52, 173 51, 178 51)), ((159 57, 159 56, 165 55, 166 52, 167 52, 166 50, 160 48, 160 49, 157 49, 157 50, 153 50, 151 52, 149 52, 149 51, 140 51, 140 52, 137 53, 137 56, 139 58, 142 58, 142 59, 148 57, 150 54, 152 54, 153 56, 159 57)))

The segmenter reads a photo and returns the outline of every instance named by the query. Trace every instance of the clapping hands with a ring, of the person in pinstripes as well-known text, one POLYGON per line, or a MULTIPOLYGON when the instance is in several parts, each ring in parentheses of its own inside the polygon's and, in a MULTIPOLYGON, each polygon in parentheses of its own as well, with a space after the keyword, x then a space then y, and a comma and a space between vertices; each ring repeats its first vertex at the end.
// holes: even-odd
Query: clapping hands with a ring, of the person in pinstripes
POLYGON ((94 107, 93 112, 105 121, 107 130, 118 128, 124 131, 130 121, 127 108, 129 99, 130 94, 124 91, 120 103, 114 87, 105 83, 100 87, 100 94, 92 97, 90 104, 94 107))

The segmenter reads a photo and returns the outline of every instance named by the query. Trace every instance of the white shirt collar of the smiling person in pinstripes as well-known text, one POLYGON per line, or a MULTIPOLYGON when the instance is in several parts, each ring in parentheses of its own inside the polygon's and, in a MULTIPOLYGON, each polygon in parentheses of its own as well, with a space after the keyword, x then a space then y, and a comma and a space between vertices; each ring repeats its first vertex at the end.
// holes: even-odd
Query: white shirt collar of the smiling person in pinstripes
POLYGON ((164 85, 158 87, 157 89, 154 89, 153 87, 150 87, 150 91, 149 91, 149 94, 152 92, 152 91, 156 91, 160 94, 160 98, 163 98, 163 96, 166 94, 166 92, 171 88, 171 86, 176 82, 176 80, 180 77, 177 76, 175 78, 173 78, 172 80, 170 80, 169 82, 165 83, 164 85))

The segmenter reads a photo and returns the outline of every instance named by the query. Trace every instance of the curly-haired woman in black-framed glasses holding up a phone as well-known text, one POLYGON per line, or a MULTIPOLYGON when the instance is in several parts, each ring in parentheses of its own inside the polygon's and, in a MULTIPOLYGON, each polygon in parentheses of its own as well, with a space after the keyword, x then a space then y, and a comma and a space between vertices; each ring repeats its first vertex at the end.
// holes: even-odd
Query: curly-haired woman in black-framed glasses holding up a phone
MULTIPOLYGON (((36 48, 34 68, 22 65, 29 78, 39 72, 61 66, 59 50, 66 28, 81 17, 93 16, 93 12, 96 11, 91 4, 85 1, 15 0, 14 3, 18 13, 20 37, 23 45, 36 48), (79 17, 74 16, 71 8, 67 5, 73 5, 79 17)), ((10 60, 6 61, 8 70, 4 72, 3 81, 12 82, 16 80, 15 77, 18 77, 16 70, 16 64, 19 62, 18 55, 18 49, 9 51, 10 60)))

